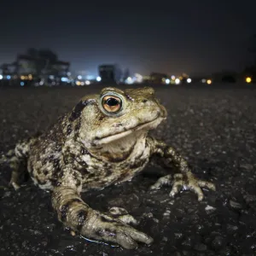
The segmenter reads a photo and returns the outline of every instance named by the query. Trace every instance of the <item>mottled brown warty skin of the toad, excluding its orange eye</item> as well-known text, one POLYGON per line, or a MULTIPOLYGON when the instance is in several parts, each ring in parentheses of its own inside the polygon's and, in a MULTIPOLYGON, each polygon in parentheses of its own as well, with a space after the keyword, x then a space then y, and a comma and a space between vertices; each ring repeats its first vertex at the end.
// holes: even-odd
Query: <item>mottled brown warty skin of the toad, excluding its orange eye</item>
POLYGON ((166 116, 166 108, 155 98, 152 88, 109 87, 99 95, 84 96, 49 131, 17 144, 11 159, 11 183, 18 188, 23 170, 20 167, 25 165, 40 188, 52 190, 52 205, 67 227, 83 236, 129 249, 137 247, 137 241, 150 244, 150 236, 127 224, 131 223, 127 220, 130 218, 97 212, 81 199, 80 193, 130 180, 153 156, 170 170, 171 166, 176 167, 178 173, 161 177, 151 189, 170 184, 170 195, 191 189, 199 200, 203 198, 200 187, 215 189, 212 183, 195 178, 173 148, 148 136, 148 131, 166 116), (104 96, 117 97, 121 102, 119 111, 108 112, 106 104, 102 104, 104 96))

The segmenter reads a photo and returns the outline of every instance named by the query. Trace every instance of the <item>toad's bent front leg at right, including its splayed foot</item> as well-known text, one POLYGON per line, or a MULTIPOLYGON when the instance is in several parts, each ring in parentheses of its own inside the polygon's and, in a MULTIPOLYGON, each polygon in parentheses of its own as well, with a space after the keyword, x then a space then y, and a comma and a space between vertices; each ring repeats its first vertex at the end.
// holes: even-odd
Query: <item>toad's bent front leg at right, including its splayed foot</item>
POLYGON ((153 154, 160 157, 160 164, 165 167, 174 166, 177 169, 176 174, 166 175, 165 177, 160 177, 160 179, 150 187, 150 189, 159 189, 162 185, 172 185, 171 196, 176 195, 181 189, 190 189, 194 191, 198 196, 198 201, 204 198, 201 188, 207 188, 215 190, 215 185, 213 183, 203 181, 195 177, 195 175, 190 171, 189 165, 182 158, 180 154, 160 141, 150 138, 150 145, 153 148, 153 154))

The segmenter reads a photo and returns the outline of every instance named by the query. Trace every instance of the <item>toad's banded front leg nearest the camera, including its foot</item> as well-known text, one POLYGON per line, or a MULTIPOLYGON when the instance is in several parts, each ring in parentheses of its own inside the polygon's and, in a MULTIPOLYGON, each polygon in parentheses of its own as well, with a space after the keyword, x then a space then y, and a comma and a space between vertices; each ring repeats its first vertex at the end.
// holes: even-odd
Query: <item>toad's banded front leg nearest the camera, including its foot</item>
POLYGON ((71 187, 55 188, 52 205, 63 224, 88 238, 118 243, 127 249, 137 247, 137 241, 146 244, 153 241, 124 222, 91 209, 71 187))

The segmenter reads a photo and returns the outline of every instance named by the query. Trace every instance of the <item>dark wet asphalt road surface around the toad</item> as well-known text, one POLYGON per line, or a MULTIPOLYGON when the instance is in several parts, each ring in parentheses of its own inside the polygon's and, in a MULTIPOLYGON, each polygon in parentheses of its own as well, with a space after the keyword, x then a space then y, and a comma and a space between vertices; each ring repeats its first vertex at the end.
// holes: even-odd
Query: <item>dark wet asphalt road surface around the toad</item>
MULTIPOLYGON (((189 191, 175 199, 168 187, 149 192, 163 170, 148 166, 130 183, 84 194, 102 212, 125 207, 140 221, 137 229, 154 237, 150 247, 129 251, 72 236, 57 221, 49 193, 29 179, 18 191, 8 188, 9 168, 0 166, 1 256, 256 255, 256 84, 154 88, 168 110, 154 135, 177 148, 217 191, 205 189, 201 202, 189 191)), ((44 131, 81 96, 98 90, 0 89, 0 153, 44 131)))

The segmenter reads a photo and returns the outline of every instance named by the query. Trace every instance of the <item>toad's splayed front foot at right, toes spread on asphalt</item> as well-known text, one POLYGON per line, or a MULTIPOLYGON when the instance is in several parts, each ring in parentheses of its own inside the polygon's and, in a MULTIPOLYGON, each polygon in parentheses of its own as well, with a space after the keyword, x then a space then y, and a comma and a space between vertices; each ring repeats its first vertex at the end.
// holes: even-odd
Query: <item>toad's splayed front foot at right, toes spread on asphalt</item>
POLYGON ((197 194, 198 201, 201 201, 204 198, 201 188, 207 188, 215 190, 215 185, 204 180, 200 180, 194 176, 192 172, 177 173, 173 175, 166 175, 160 177, 150 189, 160 189, 163 185, 172 185, 171 196, 176 195, 180 190, 192 190, 197 194))

